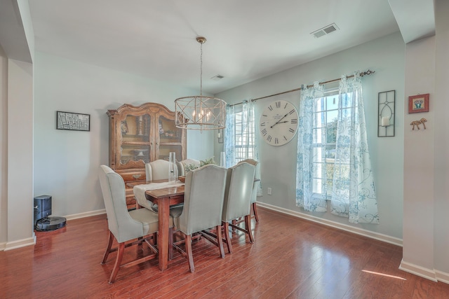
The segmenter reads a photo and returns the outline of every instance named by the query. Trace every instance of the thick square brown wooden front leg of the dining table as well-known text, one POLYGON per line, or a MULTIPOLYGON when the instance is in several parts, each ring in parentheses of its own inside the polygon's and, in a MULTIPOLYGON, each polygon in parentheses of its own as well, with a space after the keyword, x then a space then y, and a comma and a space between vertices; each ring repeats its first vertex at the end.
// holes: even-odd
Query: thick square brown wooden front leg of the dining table
POLYGON ((159 209, 159 269, 166 270, 168 267, 168 234, 170 225, 170 200, 160 200, 159 209))

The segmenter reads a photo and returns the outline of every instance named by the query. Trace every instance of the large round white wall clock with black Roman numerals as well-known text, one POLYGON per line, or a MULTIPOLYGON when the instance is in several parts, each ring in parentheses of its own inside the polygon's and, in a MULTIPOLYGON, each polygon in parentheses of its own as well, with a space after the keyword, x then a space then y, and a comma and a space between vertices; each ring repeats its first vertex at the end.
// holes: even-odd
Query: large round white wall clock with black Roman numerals
POLYGON ((260 134, 272 146, 283 146, 295 137, 298 126, 296 107, 279 100, 268 104, 259 120, 260 134))

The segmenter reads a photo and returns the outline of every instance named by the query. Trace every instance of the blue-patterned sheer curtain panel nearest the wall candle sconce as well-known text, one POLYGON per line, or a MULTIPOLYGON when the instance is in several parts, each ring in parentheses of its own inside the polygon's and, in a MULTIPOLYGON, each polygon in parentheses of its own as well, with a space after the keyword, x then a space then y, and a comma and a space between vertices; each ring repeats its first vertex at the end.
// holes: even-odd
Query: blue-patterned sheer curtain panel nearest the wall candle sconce
POLYGON ((373 169, 371 168, 362 84, 358 73, 339 88, 337 148, 331 211, 349 217, 351 223, 379 223, 373 169), (349 173, 349 175, 348 175, 349 173))

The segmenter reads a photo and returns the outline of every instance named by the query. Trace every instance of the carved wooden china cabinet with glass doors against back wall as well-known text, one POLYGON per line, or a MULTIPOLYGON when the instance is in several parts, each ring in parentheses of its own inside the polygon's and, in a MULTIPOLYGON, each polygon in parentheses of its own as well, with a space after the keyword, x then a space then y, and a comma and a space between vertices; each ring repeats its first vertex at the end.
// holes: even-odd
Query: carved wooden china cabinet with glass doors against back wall
MULTIPOLYGON (((176 160, 186 158, 185 130, 175 126, 175 112, 156 103, 140 106, 123 104, 108 110, 109 167, 123 177, 125 183, 145 183, 145 163, 168 160, 170 152, 176 160)), ((135 207, 133 188, 126 186, 128 209, 135 207)))

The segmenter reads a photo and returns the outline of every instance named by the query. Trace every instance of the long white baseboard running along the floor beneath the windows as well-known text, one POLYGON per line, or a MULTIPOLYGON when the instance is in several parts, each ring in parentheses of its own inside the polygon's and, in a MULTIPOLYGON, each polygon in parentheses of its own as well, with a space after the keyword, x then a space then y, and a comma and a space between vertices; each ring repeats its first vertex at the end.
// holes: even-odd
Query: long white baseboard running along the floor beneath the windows
POLYGON ((335 222, 335 221, 330 221, 330 220, 327 220, 327 219, 319 218, 319 217, 316 217, 316 216, 311 216, 311 215, 308 215, 308 214, 301 213, 299 211, 291 211, 289 209, 283 209, 283 208, 280 208, 280 207, 273 206, 271 204, 265 204, 264 202, 257 202, 257 206, 263 207, 265 209, 271 209, 272 211, 279 211, 279 213, 282 213, 282 214, 287 214, 287 215, 290 215, 290 216, 303 218, 303 219, 306 219, 306 220, 309 220, 309 221, 314 221, 316 223, 321 223, 323 225, 328 225, 328 226, 330 226, 332 228, 337 228, 339 230, 352 232, 354 234, 362 235, 364 237, 369 237, 371 239, 377 239, 379 241, 387 242, 389 244, 402 246, 402 239, 399 239, 399 238, 396 238, 396 237, 391 237, 389 235, 380 234, 379 232, 372 232, 370 230, 364 230, 363 228, 355 228, 354 226, 351 226, 351 225, 346 225, 346 224, 338 223, 338 222, 335 222))

